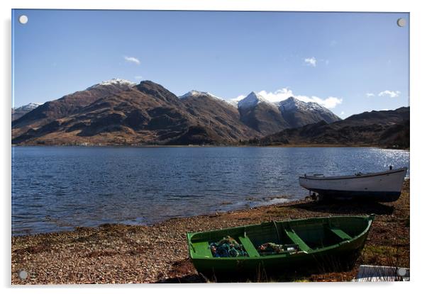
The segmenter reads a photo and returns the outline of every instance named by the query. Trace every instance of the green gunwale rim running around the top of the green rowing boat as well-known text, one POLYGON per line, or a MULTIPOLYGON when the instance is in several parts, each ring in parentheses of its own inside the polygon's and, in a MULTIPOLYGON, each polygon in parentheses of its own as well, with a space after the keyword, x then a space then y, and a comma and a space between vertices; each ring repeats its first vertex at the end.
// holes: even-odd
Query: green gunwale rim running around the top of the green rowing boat
MULTIPOLYGON (((333 217, 308 217, 308 218, 301 218, 299 220, 283 220, 283 221, 279 221, 279 222, 292 222, 292 221, 306 221, 306 220, 326 220, 328 218, 365 218, 367 220, 367 226, 365 227, 365 230, 363 230, 360 234, 357 234, 355 237, 348 239, 348 240, 343 240, 341 242, 338 242, 336 244, 333 244, 331 246, 328 247, 322 247, 322 248, 318 248, 318 249, 311 249, 310 251, 298 251, 294 254, 274 254, 274 255, 264 255, 264 256, 240 256, 240 257, 214 257, 214 256, 203 256, 203 257, 194 257, 192 254, 192 250, 190 249, 190 244, 192 244, 192 237, 194 237, 195 234, 201 234, 201 233, 209 233, 209 232, 218 232, 220 230, 210 230, 210 231, 204 231, 204 232, 189 232, 187 233, 187 241, 188 241, 188 250, 189 250, 189 256, 190 259, 192 260, 250 260, 250 259, 281 259, 281 258, 292 258, 293 256, 300 256, 302 254, 316 254, 318 252, 323 252, 323 251, 327 251, 327 250, 331 250, 331 249, 335 249, 337 247, 340 247, 342 244, 346 244, 346 243, 351 243, 351 242, 356 242, 357 239, 360 239, 361 237, 363 237, 365 234, 367 234, 367 232, 370 230, 371 226, 372 226, 372 221, 375 218, 374 214, 371 215, 337 215, 337 216, 333 216, 333 217)), ((275 220, 273 220, 272 222, 275 222, 275 220)), ((259 224, 255 224, 255 225, 262 225, 265 222, 259 223, 259 224)), ((245 228, 245 227, 250 227, 250 226, 255 226, 255 225, 245 225, 245 226, 239 226, 239 227, 229 227, 229 228, 225 228, 225 229, 221 229, 221 230, 231 230, 231 229, 239 229, 239 228, 245 228)))

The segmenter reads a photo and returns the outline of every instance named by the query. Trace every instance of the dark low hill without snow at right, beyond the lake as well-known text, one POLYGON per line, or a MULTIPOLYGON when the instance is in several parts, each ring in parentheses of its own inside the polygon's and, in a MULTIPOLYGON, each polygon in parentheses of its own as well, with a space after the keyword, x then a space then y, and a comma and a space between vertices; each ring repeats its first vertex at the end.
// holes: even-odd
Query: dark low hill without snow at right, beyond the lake
POLYGON ((249 141, 256 145, 364 145, 409 148, 409 107, 371 111, 328 124, 282 130, 249 141))

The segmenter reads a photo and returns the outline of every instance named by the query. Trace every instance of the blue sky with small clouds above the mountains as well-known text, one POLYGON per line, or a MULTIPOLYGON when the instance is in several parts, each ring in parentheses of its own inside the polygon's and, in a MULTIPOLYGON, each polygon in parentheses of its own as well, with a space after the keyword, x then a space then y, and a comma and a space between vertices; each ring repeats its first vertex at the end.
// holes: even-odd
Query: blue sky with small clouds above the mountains
POLYGON ((409 13, 15 10, 13 106, 111 78, 293 95, 345 118, 409 101, 409 13), (28 23, 18 23, 18 16, 28 23))

